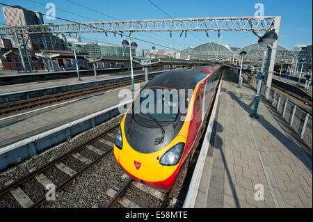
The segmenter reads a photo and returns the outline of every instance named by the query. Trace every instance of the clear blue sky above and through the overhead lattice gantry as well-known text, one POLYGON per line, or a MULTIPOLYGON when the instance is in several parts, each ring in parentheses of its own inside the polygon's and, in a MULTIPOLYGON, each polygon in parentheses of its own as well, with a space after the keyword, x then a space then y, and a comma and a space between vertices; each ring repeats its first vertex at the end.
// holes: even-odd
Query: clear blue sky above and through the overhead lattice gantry
MULTIPOLYGON (((96 13, 92 10, 77 6, 75 3, 71 3, 66 0, 0 0, 1 3, 7 3, 13 6, 19 5, 30 10, 38 10, 42 13, 46 13, 47 9, 41 4, 54 3, 56 6, 56 17, 62 17, 76 22, 93 22, 93 21, 111 21, 110 17, 106 17, 100 13, 96 13), (72 13, 79 14, 71 15, 62 10, 67 10, 72 13), (88 18, 88 19, 87 19, 88 18)), ((254 16, 255 3, 263 3, 264 15, 281 15, 282 24, 280 29, 279 45, 287 47, 287 49, 293 49, 294 45, 310 44, 312 45, 312 0, 240 0, 240 1, 205 1, 205 0, 192 0, 192 1, 163 1, 163 0, 151 0, 168 15, 164 14, 161 10, 156 8, 147 0, 71 0, 79 3, 93 10, 97 10, 101 13, 115 17, 120 20, 129 19, 160 19, 168 18, 168 15, 174 18, 183 17, 243 17, 254 16)), ((3 13, 0 13, 0 22, 5 23, 3 13)), ((66 23, 61 20, 47 20, 45 22, 53 23, 66 23)), ((180 33, 172 33, 172 41, 170 42, 169 33, 134 33, 131 36, 141 38, 150 42, 154 42, 159 45, 173 47, 177 49, 184 49, 186 47, 195 47, 209 40, 218 41, 218 33, 210 32, 209 38, 205 33, 199 32, 195 35, 187 33, 185 38, 182 35, 179 38, 180 33)), ((107 38, 103 33, 86 33, 81 35, 83 38, 88 38, 93 41, 117 43, 122 42, 120 36, 113 37, 113 34, 109 34, 107 38)), ((223 45, 231 45, 232 47, 243 47, 245 45, 257 42, 257 37, 250 32, 222 32, 220 33, 220 43, 223 45)), ((88 40, 83 40, 87 42, 88 40)), ((151 49, 152 44, 136 41, 138 47, 141 49, 151 49)), ((157 48, 162 48, 157 46, 157 48)), ((166 49, 166 48, 164 48, 166 49)))

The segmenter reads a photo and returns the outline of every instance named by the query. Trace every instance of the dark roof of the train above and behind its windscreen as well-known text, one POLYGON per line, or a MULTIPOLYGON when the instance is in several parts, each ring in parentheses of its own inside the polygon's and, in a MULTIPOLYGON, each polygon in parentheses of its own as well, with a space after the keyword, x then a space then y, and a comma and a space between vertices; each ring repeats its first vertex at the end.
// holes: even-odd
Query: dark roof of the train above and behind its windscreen
POLYGON ((218 67, 199 67, 186 70, 172 70, 163 72, 157 77, 154 77, 145 88, 160 87, 160 88, 175 88, 179 89, 194 89, 201 79, 207 77, 218 67))

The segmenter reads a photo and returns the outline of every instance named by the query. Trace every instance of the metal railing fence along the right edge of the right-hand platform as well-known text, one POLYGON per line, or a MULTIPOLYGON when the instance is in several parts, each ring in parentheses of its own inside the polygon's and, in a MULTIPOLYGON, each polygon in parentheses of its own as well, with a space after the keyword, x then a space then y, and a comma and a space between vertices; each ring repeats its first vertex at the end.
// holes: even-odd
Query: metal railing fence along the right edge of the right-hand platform
MULTIPOLYGON (((255 90, 257 89, 256 78, 251 78, 248 82, 255 90)), ((282 118, 289 123, 290 127, 294 129, 303 142, 312 150, 312 115, 263 84, 260 94, 271 103, 276 111, 282 115, 282 118)))

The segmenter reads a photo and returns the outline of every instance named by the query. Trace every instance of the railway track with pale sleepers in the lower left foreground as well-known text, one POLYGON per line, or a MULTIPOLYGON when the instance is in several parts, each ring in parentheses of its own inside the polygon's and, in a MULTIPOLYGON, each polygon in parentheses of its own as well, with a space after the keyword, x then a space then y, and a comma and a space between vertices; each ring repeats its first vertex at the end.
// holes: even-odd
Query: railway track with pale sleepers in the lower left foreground
POLYGON ((35 169, 20 180, 11 181, 0 190, 0 207, 8 207, 6 201, 13 199, 19 203, 17 207, 40 207, 46 201, 47 186, 54 186, 56 193, 61 191, 81 173, 111 153, 118 126, 119 124, 111 127, 93 140, 35 169), (34 185, 34 181, 41 186, 34 185))

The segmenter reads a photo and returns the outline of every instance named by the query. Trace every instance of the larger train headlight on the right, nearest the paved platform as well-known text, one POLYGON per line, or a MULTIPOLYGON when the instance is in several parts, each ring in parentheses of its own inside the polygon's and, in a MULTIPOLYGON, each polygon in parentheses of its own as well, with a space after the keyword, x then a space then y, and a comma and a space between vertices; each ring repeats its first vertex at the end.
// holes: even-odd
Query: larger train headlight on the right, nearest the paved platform
POLYGON ((185 143, 177 143, 170 150, 166 151, 161 157, 159 163, 163 166, 175 166, 178 164, 182 152, 184 151, 185 143))

